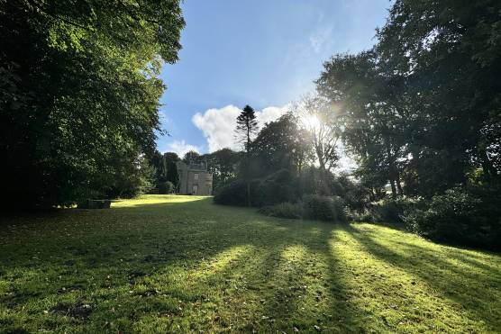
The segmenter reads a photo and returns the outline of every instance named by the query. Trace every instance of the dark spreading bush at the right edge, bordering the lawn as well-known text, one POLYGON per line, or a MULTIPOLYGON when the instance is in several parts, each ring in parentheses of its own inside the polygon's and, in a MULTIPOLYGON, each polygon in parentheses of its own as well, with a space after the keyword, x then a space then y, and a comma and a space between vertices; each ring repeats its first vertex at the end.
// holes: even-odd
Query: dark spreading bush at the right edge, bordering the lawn
POLYGON ((410 230, 436 241, 501 248, 501 194, 496 187, 453 188, 405 216, 410 230), (494 188, 494 189, 493 189, 494 188))

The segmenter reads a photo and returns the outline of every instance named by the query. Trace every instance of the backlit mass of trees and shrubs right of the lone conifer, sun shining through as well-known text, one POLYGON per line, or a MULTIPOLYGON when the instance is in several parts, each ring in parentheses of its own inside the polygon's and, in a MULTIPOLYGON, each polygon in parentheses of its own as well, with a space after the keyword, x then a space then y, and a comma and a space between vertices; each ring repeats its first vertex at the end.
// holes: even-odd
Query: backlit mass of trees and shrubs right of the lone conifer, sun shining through
POLYGON ((326 61, 316 95, 261 129, 215 201, 304 216, 305 195, 327 196, 315 207, 499 248, 500 26, 496 1, 396 1, 374 48, 326 61), (350 177, 332 174, 340 142, 350 177))

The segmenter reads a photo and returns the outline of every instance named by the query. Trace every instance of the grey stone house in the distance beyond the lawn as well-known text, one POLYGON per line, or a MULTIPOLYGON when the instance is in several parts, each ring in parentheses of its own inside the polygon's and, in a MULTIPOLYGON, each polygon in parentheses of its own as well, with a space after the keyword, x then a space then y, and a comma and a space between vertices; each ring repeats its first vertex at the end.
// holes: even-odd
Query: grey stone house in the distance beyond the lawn
POLYGON ((207 163, 189 164, 177 162, 179 176, 179 194, 210 195, 213 193, 213 175, 207 169, 207 163))

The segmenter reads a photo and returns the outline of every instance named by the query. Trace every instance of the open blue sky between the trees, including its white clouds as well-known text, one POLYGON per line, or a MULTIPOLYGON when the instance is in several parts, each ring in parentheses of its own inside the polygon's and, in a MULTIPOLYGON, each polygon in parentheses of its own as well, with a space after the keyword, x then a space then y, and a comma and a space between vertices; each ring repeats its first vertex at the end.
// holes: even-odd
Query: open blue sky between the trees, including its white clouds
POLYGON ((388 0, 187 0, 179 61, 166 65, 162 152, 234 148, 245 104, 260 122, 314 90, 323 61, 369 49, 388 0))

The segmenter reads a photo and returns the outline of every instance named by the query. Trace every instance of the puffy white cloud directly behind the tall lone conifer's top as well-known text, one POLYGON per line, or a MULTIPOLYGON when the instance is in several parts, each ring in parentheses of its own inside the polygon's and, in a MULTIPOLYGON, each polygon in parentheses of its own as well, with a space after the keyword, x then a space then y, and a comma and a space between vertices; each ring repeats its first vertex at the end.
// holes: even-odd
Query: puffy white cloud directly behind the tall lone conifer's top
MULTIPOLYGON (((275 121, 287 112, 287 105, 283 107, 270 106, 256 112, 260 127, 266 122, 275 121)), ((200 129, 207 140, 209 152, 230 148, 241 149, 235 140, 235 127, 241 109, 230 104, 220 109, 208 109, 205 113, 196 113, 192 122, 200 129)))

